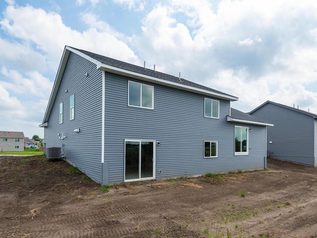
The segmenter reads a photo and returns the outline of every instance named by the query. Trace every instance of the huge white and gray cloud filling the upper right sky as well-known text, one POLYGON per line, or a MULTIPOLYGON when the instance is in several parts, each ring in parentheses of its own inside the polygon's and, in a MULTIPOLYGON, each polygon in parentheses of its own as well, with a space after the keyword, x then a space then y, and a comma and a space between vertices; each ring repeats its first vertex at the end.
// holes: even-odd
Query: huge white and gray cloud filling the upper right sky
POLYGON ((238 96, 238 109, 297 101, 317 113, 316 95, 306 89, 313 83, 317 89, 316 11, 312 0, 300 6, 295 0, 172 0, 147 14, 135 41, 163 70, 176 75, 180 69, 189 80, 238 96))

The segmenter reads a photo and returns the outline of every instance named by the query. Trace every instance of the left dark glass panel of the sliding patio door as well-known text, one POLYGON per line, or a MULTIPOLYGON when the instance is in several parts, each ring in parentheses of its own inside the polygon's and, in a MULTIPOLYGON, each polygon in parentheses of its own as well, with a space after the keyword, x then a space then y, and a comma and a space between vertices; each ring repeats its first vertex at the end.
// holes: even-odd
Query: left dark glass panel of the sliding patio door
POLYGON ((125 179, 139 179, 140 142, 125 142, 125 179))

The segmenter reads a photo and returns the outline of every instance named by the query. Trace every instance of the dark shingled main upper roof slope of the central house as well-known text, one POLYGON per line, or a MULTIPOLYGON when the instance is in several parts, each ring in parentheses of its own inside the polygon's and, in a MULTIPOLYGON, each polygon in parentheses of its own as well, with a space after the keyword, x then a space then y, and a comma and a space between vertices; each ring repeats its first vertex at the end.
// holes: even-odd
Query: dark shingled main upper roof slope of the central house
POLYGON ((91 52, 88 52, 88 51, 76 49, 76 48, 73 48, 73 47, 70 47, 70 48, 72 48, 74 50, 77 50, 77 51, 79 51, 79 52, 81 52, 81 53, 93 58, 94 60, 97 60, 97 61, 101 62, 101 63, 108 64, 108 65, 111 65, 111 66, 114 66, 114 67, 117 67, 117 68, 122 68, 122 69, 129 70, 129 71, 132 71, 132 72, 141 73, 141 74, 144 74, 144 75, 148 75, 148 76, 156 77, 156 78, 159 78, 159 79, 163 79, 163 80, 167 80, 167 81, 183 84, 183 85, 186 85, 186 86, 191 86, 191 87, 195 87, 195 88, 199 88, 199 89, 204 89, 204 90, 207 90, 207 91, 211 91, 213 93, 219 93, 219 94, 222 94, 222 95, 234 97, 234 96, 232 96, 230 94, 226 94, 226 93, 220 92, 218 90, 215 90, 215 89, 212 89, 212 88, 209 88, 209 87, 206 87, 206 86, 203 86, 203 85, 188 81, 188 80, 183 79, 183 78, 181 78, 181 80, 179 80, 179 77, 175 77, 175 76, 172 76, 172 75, 169 75, 169 74, 166 74, 166 73, 161 73, 159 71, 154 71, 154 70, 149 69, 149 68, 144 68, 144 67, 137 66, 137 65, 134 65, 134 64, 131 64, 131 63, 127 63, 127 62, 123 62, 123 61, 120 61, 120 60, 114 60, 114 59, 111 59, 111 58, 106 57, 106 56, 101 56, 101 55, 98 55, 98 54, 95 54, 95 53, 91 53, 91 52))

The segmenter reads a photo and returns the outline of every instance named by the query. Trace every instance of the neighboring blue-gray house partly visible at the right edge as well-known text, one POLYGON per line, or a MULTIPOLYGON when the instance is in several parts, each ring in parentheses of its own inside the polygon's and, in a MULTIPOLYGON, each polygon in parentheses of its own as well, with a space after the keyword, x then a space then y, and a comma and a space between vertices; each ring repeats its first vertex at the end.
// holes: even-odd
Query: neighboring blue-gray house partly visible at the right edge
POLYGON ((269 156, 317 167, 317 115, 270 101, 250 114, 274 123, 267 128, 269 156))

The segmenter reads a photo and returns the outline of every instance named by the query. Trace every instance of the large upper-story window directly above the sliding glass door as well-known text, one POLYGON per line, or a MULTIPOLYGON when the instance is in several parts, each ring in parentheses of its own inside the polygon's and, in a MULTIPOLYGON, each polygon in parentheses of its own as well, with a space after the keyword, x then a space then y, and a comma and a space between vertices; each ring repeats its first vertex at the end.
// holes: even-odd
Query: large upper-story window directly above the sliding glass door
POLYGON ((128 106, 153 109, 154 87, 129 81, 128 106))

